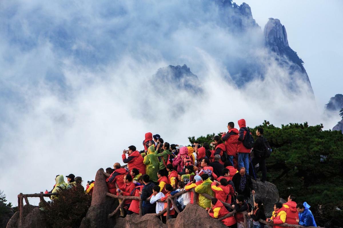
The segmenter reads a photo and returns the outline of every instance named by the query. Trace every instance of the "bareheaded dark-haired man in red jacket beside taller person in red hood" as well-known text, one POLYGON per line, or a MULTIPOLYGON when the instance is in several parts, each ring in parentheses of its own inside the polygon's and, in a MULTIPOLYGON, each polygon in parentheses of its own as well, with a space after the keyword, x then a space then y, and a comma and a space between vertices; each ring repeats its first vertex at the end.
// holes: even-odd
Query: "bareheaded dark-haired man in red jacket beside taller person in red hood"
POLYGON ((225 142, 225 148, 227 153, 227 158, 234 165, 234 156, 237 154, 238 149, 238 129, 235 128, 234 122, 229 122, 227 124, 228 132, 222 132, 222 140, 225 142))

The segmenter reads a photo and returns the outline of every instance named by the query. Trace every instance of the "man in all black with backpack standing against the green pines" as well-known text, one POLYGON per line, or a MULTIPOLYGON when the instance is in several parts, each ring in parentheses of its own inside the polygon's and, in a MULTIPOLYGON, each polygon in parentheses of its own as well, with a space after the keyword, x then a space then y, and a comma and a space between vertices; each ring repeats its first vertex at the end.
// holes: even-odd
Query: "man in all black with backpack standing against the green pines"
POLYGON ((255 141, 253 152, 254 152, 254 158, 251 160, 252 167, 251 169, 254 169, 254 172, 249 172, 250 175, 257 174, 258 171, 262 172, 262 178, 261 182, 265 182, 267 180, 267 168, 265 167, 265 142, 267 142, 267 139, 263 137, 263 128, 258 128, 256 130, 257 139, 255 141), (255 168, 255 165, 259 164, 259 169, 255 168))

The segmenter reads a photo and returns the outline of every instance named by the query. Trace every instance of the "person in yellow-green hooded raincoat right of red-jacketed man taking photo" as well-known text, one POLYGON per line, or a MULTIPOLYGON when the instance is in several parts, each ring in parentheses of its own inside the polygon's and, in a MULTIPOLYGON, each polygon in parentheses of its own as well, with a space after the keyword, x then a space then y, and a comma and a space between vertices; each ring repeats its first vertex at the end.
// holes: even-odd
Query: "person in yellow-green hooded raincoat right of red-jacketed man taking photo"
MULTIPOLYGON (((149 143, 150 145, 151 143, 149 143)), ((149 175, 150 180, 158 182, 157 172, 159 170, 159 161, 155 155, 155 144, 148 147, 147 155, 144 156, 145 173, 149 175)))

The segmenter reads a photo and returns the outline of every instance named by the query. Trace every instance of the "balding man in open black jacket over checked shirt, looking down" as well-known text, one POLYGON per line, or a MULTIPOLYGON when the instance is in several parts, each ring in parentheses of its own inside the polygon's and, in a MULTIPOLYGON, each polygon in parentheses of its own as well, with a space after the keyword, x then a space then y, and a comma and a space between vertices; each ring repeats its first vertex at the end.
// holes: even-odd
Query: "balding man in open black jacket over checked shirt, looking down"
POLYGON ((246 200, 250 198, 250 191, 255 194, 254 187, 252 186, 251 177, 245 173, 245 168, 241 167, 239 173, 232 177, 232 182, 235 185, 236 195, 243 195, 246 200))

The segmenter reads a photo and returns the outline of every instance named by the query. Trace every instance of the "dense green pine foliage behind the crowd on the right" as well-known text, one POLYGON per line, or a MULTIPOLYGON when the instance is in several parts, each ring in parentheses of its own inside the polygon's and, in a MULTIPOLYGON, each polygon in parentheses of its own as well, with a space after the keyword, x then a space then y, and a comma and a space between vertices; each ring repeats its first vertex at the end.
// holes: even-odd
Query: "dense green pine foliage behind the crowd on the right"
MULTIPOLYGON (((267 178, 277 186, 280 197, 286 199, 294 193, 297 202, 306 201, 311 205, 319 224, 342 224, 343 134, 323 131, 322 124, 289 123, 279 128, 264 121, 250 129, 255 139, 259 127, 264 129, 264 137, 273 149, 266 161, 267 178)), ((212 135, 197 140, 207 140, 212 135)))

